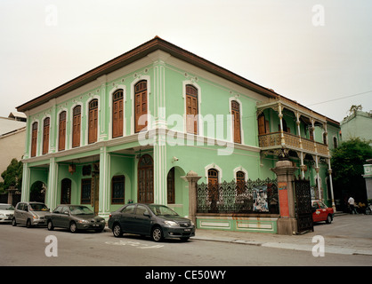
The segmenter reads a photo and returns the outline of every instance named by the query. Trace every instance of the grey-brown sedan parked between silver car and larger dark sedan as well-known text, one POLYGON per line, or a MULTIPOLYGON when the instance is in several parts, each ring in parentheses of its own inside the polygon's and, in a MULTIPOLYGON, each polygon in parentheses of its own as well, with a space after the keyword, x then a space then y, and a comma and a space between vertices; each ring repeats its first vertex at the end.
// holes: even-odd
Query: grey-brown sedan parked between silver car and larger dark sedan
POLYGON ((61 227, 69 229, 71 233, 78 230, 102 232, 106 225, 104 218, 95 216, 93 211, 84 205, 59 205, 45 218, 49 231, 54 227, 61 227))

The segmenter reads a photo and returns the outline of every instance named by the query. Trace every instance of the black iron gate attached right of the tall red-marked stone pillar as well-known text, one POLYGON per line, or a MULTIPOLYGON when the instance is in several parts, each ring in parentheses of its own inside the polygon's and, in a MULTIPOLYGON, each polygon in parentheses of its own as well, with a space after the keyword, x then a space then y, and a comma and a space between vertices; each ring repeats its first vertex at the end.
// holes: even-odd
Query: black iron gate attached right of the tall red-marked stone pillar
POLYGON ((311 209, 310 180, 295 179, 295 215, 298 233, 314 232, 311 209))

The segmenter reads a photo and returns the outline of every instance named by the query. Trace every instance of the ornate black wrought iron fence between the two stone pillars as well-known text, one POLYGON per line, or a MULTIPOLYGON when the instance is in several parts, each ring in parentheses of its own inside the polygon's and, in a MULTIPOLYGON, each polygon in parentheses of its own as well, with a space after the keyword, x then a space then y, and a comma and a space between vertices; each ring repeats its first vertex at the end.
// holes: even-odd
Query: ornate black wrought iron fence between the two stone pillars
POLYGON ((277 180, 202 183, 197 188, 197 212, 279 214, 277 180))

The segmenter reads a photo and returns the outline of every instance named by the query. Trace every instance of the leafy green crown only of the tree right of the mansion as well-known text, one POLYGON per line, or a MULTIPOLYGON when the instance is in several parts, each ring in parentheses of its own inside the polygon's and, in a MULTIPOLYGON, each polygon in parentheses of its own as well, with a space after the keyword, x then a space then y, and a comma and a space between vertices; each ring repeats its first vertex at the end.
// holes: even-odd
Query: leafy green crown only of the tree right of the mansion
POLYGON ((336 181, 344 184, 352 182, 363 174, 363 164, 372 157, 372 147, 369 141, 361 138, 351 138, 344 141, 332 154, 332 170, 336 181))

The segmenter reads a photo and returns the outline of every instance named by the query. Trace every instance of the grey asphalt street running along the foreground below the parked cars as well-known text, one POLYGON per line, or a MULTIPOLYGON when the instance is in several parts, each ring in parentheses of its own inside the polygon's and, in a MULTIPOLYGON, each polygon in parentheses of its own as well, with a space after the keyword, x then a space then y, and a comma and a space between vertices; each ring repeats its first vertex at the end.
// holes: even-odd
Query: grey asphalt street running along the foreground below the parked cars
MULTIPOLYGON (((345 217, 351 219, 351 217, 345 217)), ((337 219, 336 219, 337 220, 337 219)), ((372 220, 372 219, 371 219, 372 220)), ((350 222, 353 222, 352 219, 350 222)), ((328 228, 344 225, 334 222, 328 228)), ((319 225, 322 230, 326 225, 319 225)), ((317 227, 316 227, 317 230, 317 227)), ((336 231, 337 232, 337 231, 336 231)), ((198 233, 198 231, 197 231, 198 233)), ((313 233, 312 233, 313 234, 313 233)), ((257 237, 260 235, 258 234, 257 237)), ((279 237, 279 236, 275 236, 279 237)), ((296 236, 296 238, 305 237, 296 236)), ((67 230, 0 225, 0 266, 370 266, 372 256, 272 248, 221 241, 166 240, 111 232, 69 233, 67 230)), ((314 245, 309 243, 309 245, 314 245)))

